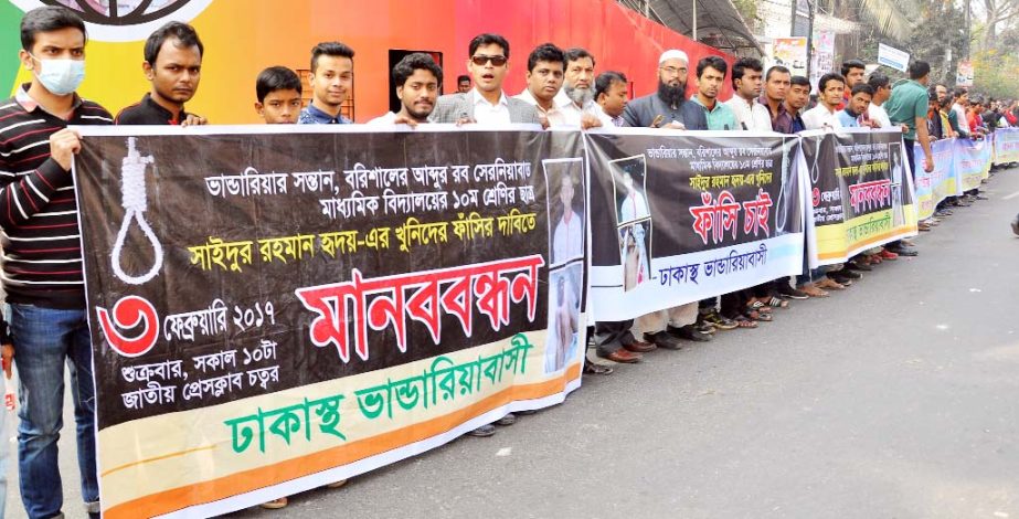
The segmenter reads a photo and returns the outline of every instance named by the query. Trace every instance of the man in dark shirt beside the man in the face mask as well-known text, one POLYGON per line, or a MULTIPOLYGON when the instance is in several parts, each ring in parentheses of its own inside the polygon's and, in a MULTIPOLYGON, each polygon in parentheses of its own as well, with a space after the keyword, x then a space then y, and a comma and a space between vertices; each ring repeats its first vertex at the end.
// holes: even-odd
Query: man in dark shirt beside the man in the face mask
POLYGON ((145 42, 141 70, 152 91, 141 102, 120 110, 117 125, 204 125, 204 117, 184 112, 198 92, 205 47, 194 28, 170 22, 145 42))

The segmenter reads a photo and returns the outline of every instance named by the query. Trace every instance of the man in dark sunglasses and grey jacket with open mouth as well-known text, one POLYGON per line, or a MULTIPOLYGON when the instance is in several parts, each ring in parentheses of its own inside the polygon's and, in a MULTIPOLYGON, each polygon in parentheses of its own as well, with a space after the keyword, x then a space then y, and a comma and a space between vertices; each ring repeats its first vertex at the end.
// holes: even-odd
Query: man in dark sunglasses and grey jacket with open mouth
POLYGON ((509 42, 498 34, 479 34, 470 40, 468 51, 467 72, 474 80, 474 89, 439 97, 432 123, 541 124, 534 106, 502 92, 509 72, 509 42))

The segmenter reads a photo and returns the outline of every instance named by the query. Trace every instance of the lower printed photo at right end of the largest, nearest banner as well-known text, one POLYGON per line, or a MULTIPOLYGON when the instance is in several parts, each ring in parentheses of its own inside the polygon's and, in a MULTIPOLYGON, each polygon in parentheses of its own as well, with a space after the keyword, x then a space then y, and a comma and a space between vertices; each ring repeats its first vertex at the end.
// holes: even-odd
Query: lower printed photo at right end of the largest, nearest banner
POLYGON ((582 265, 575 263, 549 273, 549 335, 545 373, 561 371, 580 348, 582 265))

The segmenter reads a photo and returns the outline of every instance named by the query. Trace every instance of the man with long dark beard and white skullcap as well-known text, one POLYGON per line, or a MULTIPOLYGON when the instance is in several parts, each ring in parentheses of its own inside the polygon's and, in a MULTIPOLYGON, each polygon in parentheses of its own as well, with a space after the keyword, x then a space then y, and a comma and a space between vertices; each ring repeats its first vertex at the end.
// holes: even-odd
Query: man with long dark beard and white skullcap
POLYGON ((633 127, 703 130, 708 129, 704 110, 687 103, 687 53, 669 50, 658 59, 658 92, 638 97, 626 105, 623 118, 633 127))

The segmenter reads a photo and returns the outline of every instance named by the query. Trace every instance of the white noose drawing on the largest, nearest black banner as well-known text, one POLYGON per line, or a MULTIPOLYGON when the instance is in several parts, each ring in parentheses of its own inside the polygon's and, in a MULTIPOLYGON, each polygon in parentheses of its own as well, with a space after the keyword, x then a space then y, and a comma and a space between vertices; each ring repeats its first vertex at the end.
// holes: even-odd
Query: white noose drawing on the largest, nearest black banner
POLYGON ((148 198, 145 193, 145 167, 153 162, 152 156, 142 157, 135 147, 135 138, 127 138, 127 157, 124 158, 120 167, 120 192, 124 205, 124 223, 120 224, 120 231, 117 233, 117 241, 114 243, 112 254, 114 273, 124 283, 131 285, 141 285, 149 282, 162 268, 162 245, 152 232, 152 227, 145 221, 145 211, 148 209, 148 198), (140 276, 131 276, 124 272, 120 265, 124 252, 124 241, 127 240, 127 230, 131 226, 131 219, 138 222, 138 227, 145 233, 152 251, 156 254, 156 261, 152 267, 140 276))

